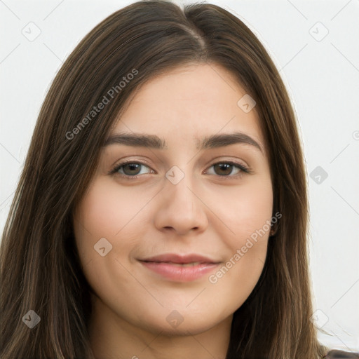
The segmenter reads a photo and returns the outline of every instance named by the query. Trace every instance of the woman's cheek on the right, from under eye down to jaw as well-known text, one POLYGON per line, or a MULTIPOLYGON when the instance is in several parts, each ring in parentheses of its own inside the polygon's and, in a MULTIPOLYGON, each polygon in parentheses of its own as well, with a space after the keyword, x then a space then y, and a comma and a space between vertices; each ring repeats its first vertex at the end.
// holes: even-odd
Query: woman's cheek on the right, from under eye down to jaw
POLYGON ((233 303, 243 303, 266 259, 273 210, 271 180, 257 177, 245 186, 222 191, 215 201, 216 215, 222 219, 218 236, 228 251, 224 266, 208 279, 225 296, 231 296, 233 303))

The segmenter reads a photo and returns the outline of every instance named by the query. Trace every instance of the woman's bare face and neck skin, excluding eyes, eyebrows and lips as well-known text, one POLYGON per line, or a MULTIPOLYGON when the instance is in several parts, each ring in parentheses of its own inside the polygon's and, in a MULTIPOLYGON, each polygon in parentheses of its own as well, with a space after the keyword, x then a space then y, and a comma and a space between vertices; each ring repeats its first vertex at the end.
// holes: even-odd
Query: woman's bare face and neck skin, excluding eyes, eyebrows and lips
POLYGON ((219 65, 177 67, 142 86, 116 122, 111 134, 158 135, 168 147, 104 147, 74 213, 81 265, 93 288, 89 333, 96 358, 225 358, 233 313, 262 273, 269 230, 217 283, 208 278, 264 228, 273 209, 257 112, 237 105, 245 93, 219 65), (235 131, 252 137, 262 151, 244 143, 196 149, 204 136, 235 131), (124 159, 144 165, 109 175, 124 159), (226 161, 252 172, 214 166, 226 161), (177 184, 165 177, 174 165, 184 173, 177 184), (121 177, 138 173, 136 179, 121 177), (100 238, 112 245, 104 257, 94 250, 100 238), (222 264, 179 282, 137 260, 163 253, 196 253, 222 264), (177 327, 166 320, 172 311, 183 319, 177 327))

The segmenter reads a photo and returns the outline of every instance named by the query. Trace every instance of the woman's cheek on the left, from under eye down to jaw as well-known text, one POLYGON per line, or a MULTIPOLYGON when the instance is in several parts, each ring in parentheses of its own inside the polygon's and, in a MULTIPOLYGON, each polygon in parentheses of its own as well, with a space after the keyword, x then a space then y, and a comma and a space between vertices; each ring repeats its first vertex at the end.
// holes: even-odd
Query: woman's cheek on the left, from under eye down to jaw
POLYGON ((134 196, 133 193, 128 188, 119 192, 118 186, 114 188, 113 184, 98 179, 88 188, 74 216, 83 273, 93 290, 105 300, 112 298, 116 302, 121 298, 114 283, 121 283, 121 287, 133 285, 126 270, 130 268, 128 255, 143 237, 141 209, 149 201, 146 194, 134 196), (104 256, 100 248, 104 248, 104 256))

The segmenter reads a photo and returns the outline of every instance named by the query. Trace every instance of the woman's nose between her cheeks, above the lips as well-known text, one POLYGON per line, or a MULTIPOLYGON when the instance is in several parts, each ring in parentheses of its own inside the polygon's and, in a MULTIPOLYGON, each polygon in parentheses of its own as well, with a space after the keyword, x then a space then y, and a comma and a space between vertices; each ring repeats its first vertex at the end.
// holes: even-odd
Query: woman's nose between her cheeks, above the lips
POLYGON ((156 228, 159 231, 172 231, 179 236, 205 231, 208 226, 208 208, 201 194, 196 192, 189 175, 185 175, 177 184, 165 179, 164 188, 158 194, 158 208, 154 218, 156 228))

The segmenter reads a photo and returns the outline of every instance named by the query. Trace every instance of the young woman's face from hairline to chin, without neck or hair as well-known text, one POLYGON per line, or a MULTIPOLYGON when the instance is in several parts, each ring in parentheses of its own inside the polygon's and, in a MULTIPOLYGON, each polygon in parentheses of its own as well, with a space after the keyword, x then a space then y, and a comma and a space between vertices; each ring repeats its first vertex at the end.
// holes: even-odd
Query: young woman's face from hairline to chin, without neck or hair
POLYGON ((179 67, 135 94, 110 136, 151 139, 113 137, 74 215, 94 316, 196 334, 230 323, 248 298, 266 258, 273 197, 245 95, 217 65, 179 67), (233 136, 216 139, 223 135, 233 136))

